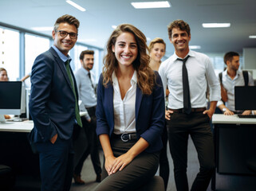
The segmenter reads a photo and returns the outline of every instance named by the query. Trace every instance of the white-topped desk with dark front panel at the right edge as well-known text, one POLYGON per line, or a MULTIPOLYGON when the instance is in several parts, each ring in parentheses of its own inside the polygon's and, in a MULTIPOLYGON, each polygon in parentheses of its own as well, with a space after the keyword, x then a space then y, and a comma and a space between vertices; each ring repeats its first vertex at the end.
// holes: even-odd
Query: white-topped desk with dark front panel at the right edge
MULTIPOLYGON (((217 173, 253 175, 246 160, 256 155, 256 119, 241 119, 237 115, 215 114, 215 159, 217 173)), ((212 189, 215 179, 212 181, 212 189)))

